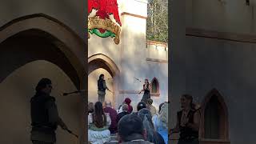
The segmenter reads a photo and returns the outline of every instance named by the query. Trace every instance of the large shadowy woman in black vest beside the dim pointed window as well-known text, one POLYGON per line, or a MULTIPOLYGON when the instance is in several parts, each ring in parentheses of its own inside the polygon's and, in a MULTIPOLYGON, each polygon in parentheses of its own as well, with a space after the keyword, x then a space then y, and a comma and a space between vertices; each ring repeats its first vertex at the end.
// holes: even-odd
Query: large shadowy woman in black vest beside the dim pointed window
POLYGON ((199 110, 195 109, 193 97, 189 94, 183 94, 181 106, 182 110, 177 113, 177 124, 170 133, 180 133, 178 144, 199 144, 200 113, 199 110))

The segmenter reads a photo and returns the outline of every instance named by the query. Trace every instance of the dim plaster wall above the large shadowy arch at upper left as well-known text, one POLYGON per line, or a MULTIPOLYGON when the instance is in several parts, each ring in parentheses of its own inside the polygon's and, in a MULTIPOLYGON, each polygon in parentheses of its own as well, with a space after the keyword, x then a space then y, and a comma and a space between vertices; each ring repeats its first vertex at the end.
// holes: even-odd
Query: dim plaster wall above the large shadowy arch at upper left
POLYGON ((63 22, 76 32, 81 38, 85 38, 85 23, 87 1, 83 0, 8 0, 1 1, 0 26, 15 18, 30 14, 46 14, 63 22))

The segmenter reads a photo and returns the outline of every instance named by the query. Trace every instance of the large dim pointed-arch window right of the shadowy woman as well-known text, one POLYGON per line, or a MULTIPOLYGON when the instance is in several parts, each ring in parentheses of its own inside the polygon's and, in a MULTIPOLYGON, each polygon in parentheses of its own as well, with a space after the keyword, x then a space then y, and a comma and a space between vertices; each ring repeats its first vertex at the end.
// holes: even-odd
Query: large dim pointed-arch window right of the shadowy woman
POLYGON ((202 102, 200 139, 202 143, 230 143, 226 103, 216 89, 211 90, 202 102))

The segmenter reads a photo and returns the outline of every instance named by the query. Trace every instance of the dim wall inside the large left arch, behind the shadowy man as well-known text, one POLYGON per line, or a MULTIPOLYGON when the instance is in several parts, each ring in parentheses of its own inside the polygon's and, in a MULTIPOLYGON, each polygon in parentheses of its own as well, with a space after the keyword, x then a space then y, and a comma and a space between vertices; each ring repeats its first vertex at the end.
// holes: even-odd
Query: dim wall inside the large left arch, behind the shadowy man
MULTIPOLYGON (((41 78, 53 82, 52 95, 56 98, 58 112, 66 125, 74 133, 82 132, 82 98, 79 95, 63 97, 62 93, 76 90, 70 78, 58 66, 46 61, 34 61, 14 70, 0 83, 0 143, 30 142, 30 98, 41 78)), ((58 128, 57 144, 75 143, 74 136, 58 128)))

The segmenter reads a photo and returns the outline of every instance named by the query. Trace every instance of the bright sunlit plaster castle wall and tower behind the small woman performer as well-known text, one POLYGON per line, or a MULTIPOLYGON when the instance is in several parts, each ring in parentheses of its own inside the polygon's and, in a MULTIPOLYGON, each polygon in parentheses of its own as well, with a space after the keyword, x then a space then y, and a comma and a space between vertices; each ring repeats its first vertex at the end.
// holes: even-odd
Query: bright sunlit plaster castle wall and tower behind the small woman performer
MULTIPOLYGON (((122 10, 124 12, 147 16, 147 2, 145 1, 126 1, 123 5, 126 6, 122 10), (136 6, 140 7, 137 8, 136 6)), ((154 99, 154 105, 158 108, 158 105, 168 98, 168 65, 158 62, 147 62, 146 58, 150 56, 150 58, 165 59, 166 52, 162 53, 162 50, 149 51, 151 48, 146 49, 146 19, 123 15, 122 22, 121 90, 142 90, 145 78, 151 80, 156 77, 160 82, 161 96, 159 98, 152 98, 154 99), (138 82, 134 77, 142 82, 138 82)), ((126 97, 131 98, 132 105, 136 107, 137 103, 142 99, 142 94, 121 94, 121 101, 119 100, 119 103, 126 97)))

